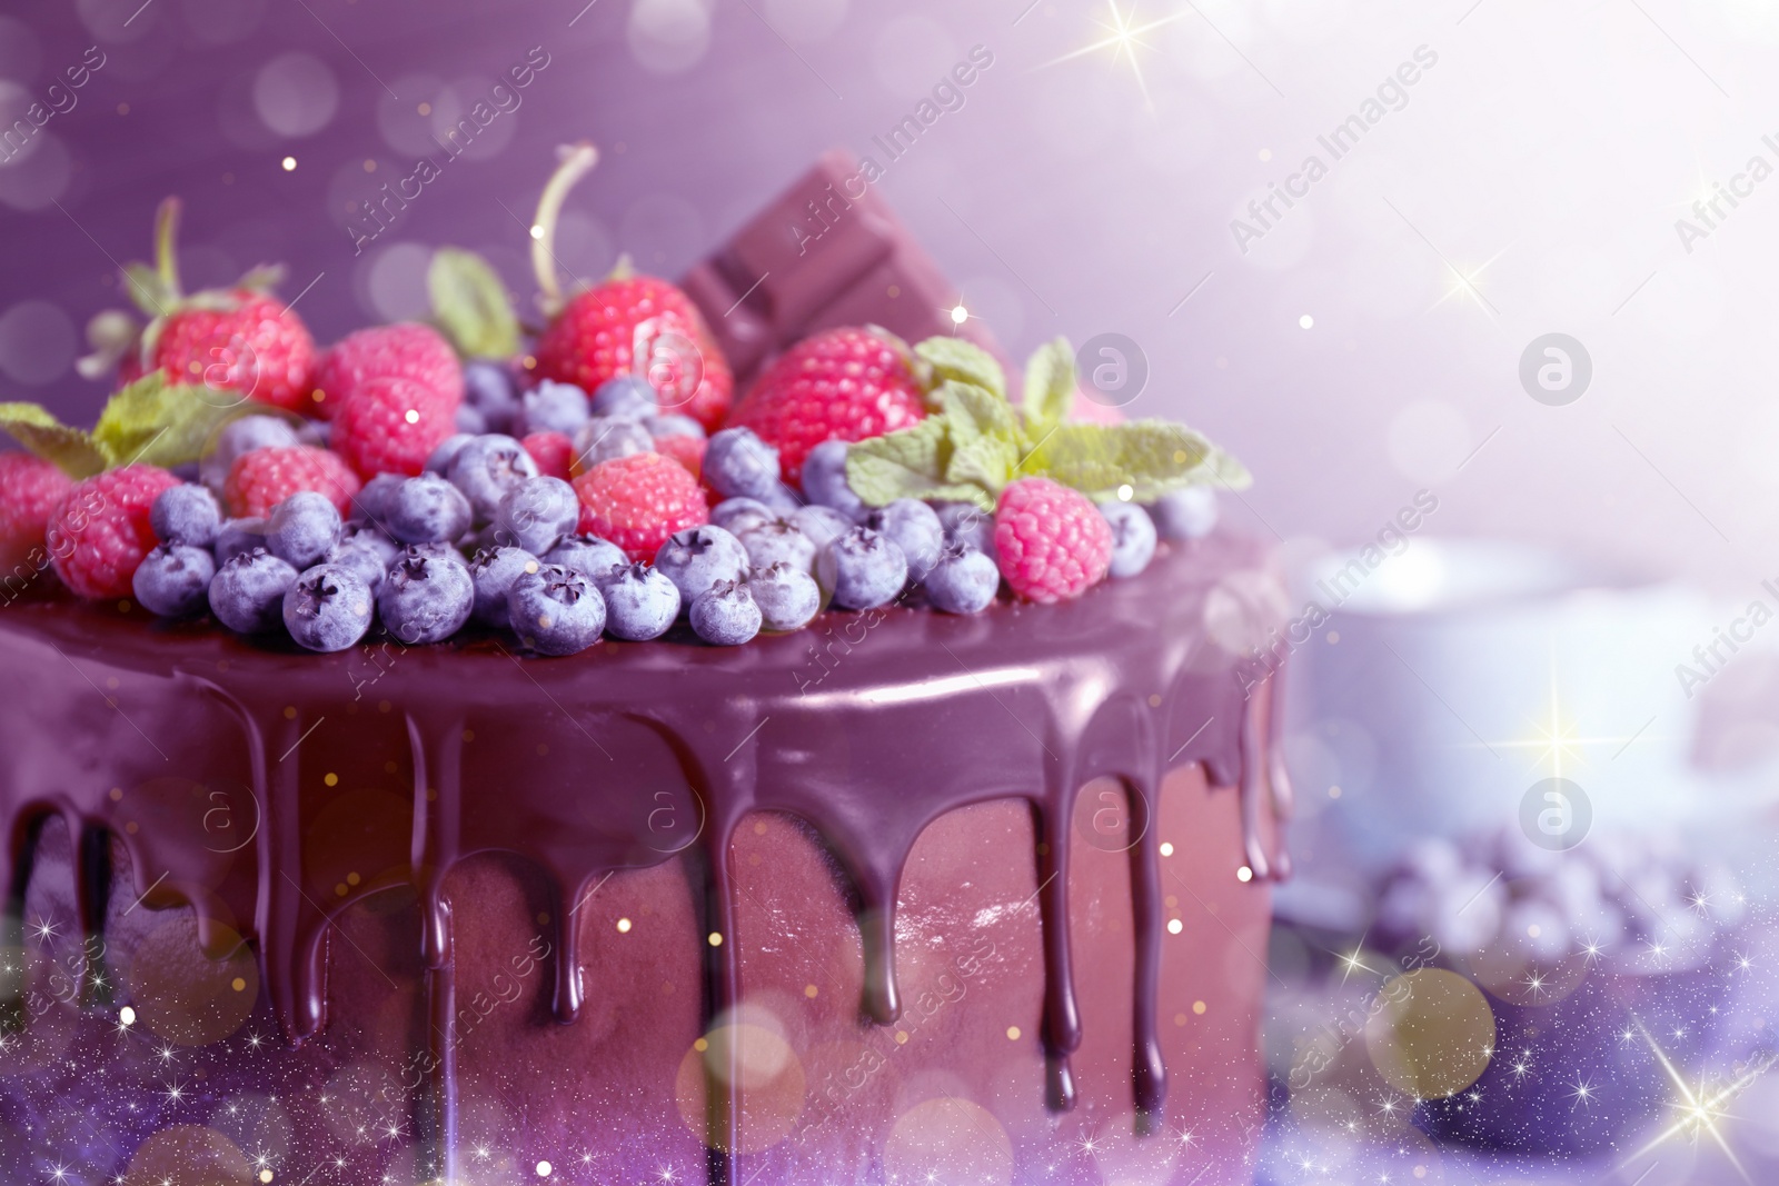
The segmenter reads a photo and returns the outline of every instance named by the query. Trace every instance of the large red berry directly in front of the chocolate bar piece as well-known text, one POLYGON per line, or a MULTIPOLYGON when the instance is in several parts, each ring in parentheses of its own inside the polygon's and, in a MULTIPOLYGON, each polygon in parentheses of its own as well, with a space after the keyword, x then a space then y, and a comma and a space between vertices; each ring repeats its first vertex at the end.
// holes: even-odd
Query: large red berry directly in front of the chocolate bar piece
POLYGON ((822 441, 863 441, 927 414, 907 347, 872 329, 827 329, 781 354, 754 382, 731 425, 779 452, 792 485, 822 441))

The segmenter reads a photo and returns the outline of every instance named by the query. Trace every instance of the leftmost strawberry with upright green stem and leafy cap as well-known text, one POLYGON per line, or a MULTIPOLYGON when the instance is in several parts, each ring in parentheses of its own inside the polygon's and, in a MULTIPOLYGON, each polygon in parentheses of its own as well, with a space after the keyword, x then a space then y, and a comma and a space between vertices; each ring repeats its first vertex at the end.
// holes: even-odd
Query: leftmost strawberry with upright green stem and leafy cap
POLYGON ((96 352, 80 361, 80 373, 96 379, 116 363, 123 388, 162 370, 176 382, 306 411, 315 340, 302 318, 269 292, 283 268, 260 267, 231 288, 185 295, 174 256, 178 220, 180 201, 160 203, 155 265, 125 268, 132 299, 151 320, 137 329, 126 313, 100 313, 87 327, 96 352))

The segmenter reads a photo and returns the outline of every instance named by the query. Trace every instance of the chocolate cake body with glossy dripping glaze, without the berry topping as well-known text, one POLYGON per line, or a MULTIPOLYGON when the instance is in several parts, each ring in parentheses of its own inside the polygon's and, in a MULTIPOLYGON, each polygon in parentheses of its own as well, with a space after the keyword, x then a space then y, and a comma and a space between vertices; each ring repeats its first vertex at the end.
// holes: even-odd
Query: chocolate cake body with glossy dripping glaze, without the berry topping
POLYGON ((23 599, 0 1170, 1242 1181, 1258 562, 575 663, 23 599))

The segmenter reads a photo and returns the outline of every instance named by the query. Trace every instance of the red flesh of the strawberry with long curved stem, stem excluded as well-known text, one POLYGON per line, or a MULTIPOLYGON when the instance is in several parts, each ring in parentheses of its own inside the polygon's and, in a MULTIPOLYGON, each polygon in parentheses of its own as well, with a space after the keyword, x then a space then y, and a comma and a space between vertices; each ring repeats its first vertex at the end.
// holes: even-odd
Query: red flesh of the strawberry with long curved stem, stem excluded
POLYGON ((735 377, 704 315, 653 276, 614 274, 575 295, 537 340, 541 379, 598 391, 628 373, 649 381, 662 411, 685 413, 706 430, 729 411, 735 377))

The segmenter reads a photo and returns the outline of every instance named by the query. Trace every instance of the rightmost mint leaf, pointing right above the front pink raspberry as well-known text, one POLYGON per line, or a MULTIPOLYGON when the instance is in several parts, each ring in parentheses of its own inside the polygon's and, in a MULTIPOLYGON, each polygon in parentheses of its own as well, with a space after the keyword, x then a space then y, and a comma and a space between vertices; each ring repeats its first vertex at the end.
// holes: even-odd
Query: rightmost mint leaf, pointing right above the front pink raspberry
POLYGON ((1139 503, 1185 485, 1247 485, 1247 469, 1201 434, 1167 420, 1123 425, 1059 425, 1026 459, 1023 473, 1042 473, 1092 500, 1131 487, 1139 503))

